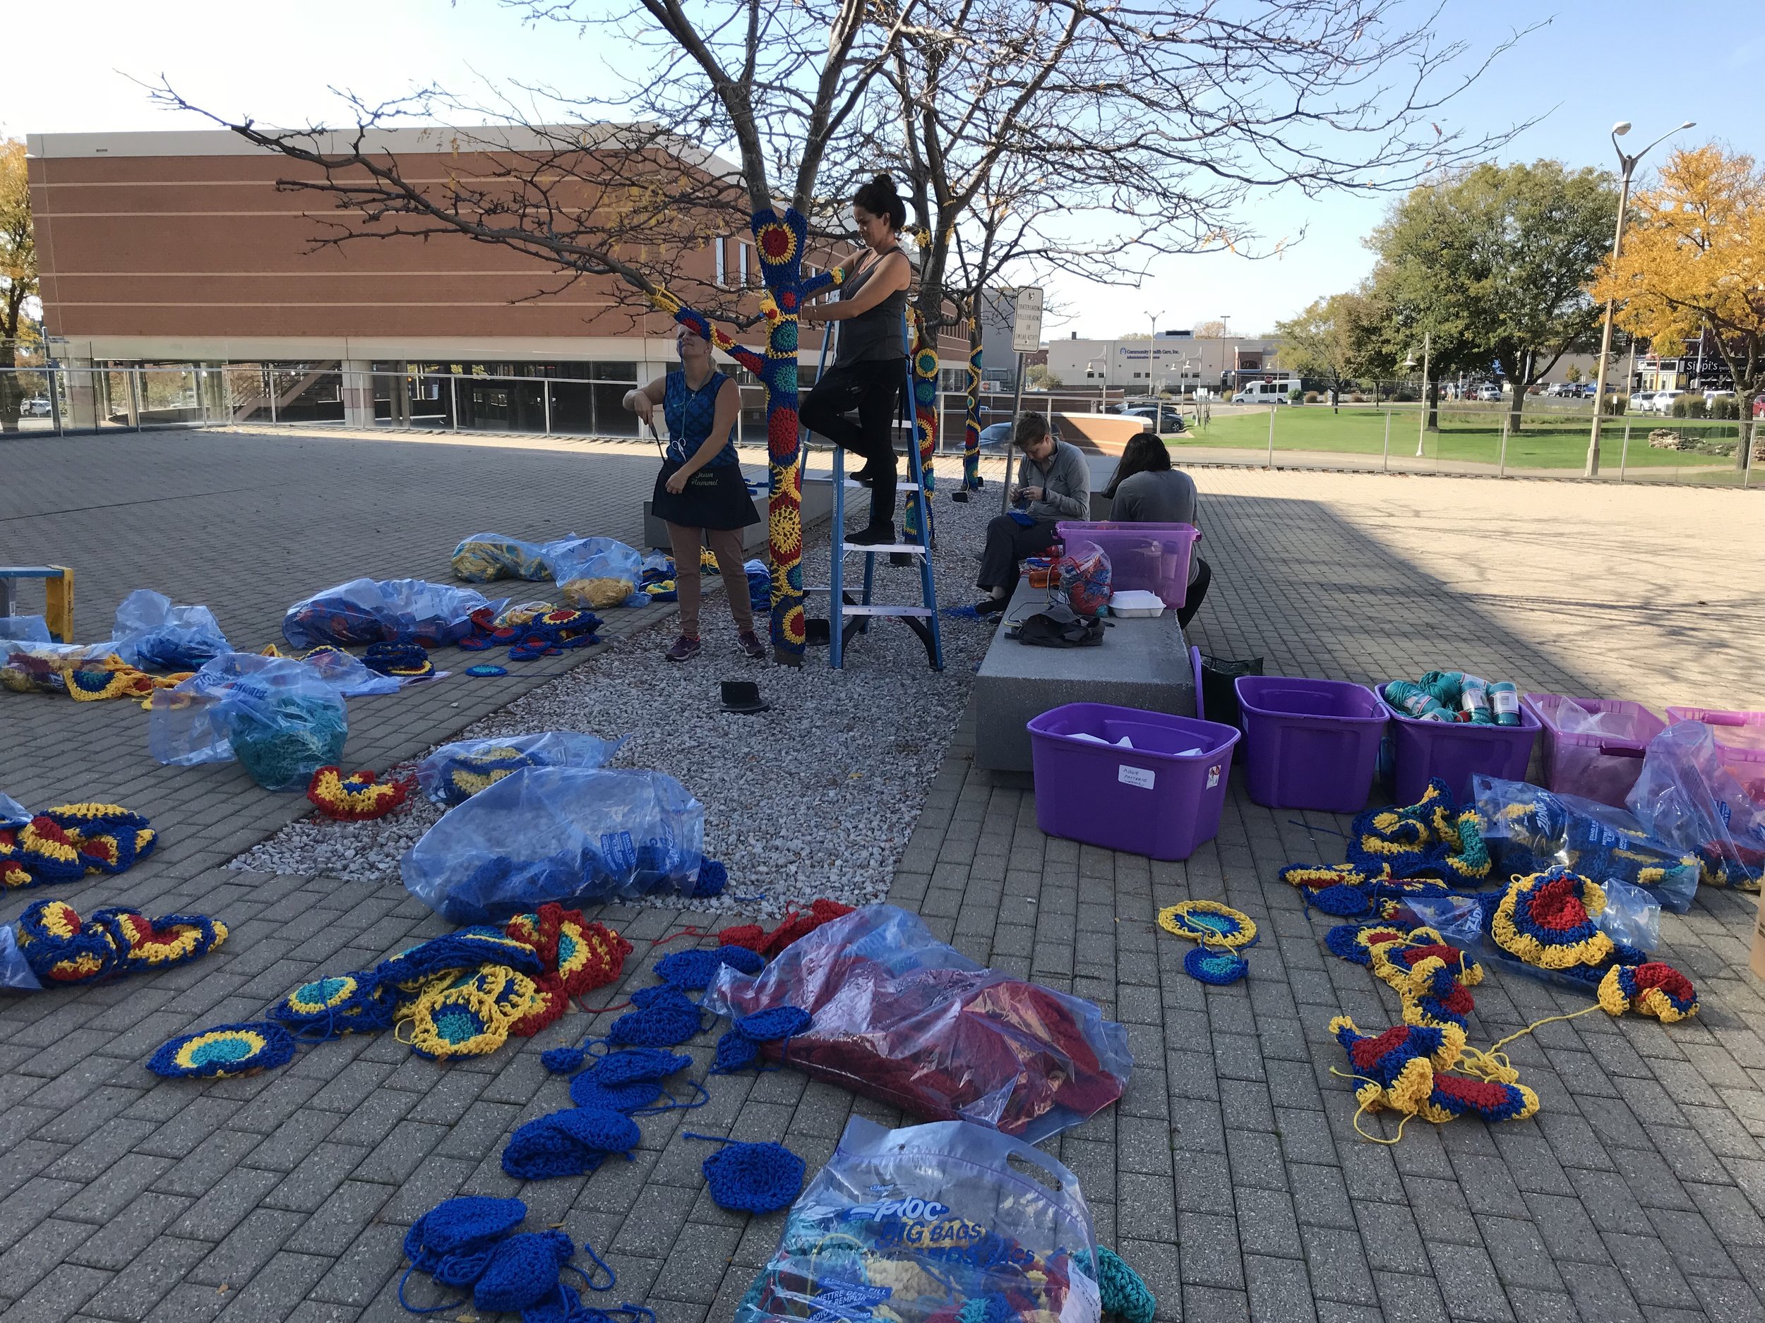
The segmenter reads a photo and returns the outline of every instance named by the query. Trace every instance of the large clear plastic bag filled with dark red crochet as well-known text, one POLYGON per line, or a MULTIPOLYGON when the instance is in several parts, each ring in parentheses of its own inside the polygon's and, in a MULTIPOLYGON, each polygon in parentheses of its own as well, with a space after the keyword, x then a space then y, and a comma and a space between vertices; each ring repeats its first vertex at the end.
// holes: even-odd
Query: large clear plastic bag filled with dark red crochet
POLYGON ((724 967, 704 1005, 796 1005, 798 1069, 920 1117, 1036 1141, 1121 1097, 1128 1030, 1096 1005, 976 965, 893 905, 867 905, 785 947, 754 977, 724 967))

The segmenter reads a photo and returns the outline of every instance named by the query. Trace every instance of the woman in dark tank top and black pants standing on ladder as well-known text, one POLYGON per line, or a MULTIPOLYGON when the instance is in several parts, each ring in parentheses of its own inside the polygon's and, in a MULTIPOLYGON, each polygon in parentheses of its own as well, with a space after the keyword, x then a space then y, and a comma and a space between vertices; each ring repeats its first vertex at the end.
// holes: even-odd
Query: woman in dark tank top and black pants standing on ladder
POLYGON ((870 526, 845 538, 865 547, 895 542, 895 420, 907 383, 904 318, 913 265, 900 247, 907 206, 888 175, 877 175, 852 198, 858 236, 868 249, 840 284, 838 302, 801 312, 807 325, 838 321, 840 348, 803 400, 803 427, 842 450, 863 455, 852 476, 870 487, 870 526), (845 415, 858 409, 854 423, 845 415))

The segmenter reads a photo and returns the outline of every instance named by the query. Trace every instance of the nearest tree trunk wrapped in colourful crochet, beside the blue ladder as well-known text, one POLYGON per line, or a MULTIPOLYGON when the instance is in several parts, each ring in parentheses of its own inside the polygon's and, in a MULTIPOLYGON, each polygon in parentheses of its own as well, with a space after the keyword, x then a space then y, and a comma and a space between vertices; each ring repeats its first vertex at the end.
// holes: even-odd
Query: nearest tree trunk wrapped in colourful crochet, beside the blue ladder
POLYGON ((803 464, 801 432, 796 416, 796 326, 803 300, 838 284, 844 270, 803 279, 803 242, 808 222, 792 206, 780 215, 775 208, 748 219, 754 245, 761 256, 761 314, 766 318, 766 353, 736 344, 727 332, 711 326, 697 309, 687 307, 667 289, 653 300, 658 309, 683 326, 690 326, 713 346, 761 379, 766 388, 766 466, 770 497, 766 506, 766 547, 773 564, 771 642, 773 660, 801 665, 807 628, 803 624, 803 464))

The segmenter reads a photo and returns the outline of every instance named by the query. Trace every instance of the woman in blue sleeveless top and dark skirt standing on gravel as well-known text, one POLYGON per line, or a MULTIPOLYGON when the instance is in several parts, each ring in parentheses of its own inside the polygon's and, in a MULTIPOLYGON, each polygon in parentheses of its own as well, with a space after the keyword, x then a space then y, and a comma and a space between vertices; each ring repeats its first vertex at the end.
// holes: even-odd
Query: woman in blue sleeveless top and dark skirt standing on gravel
POLYGON ((625 407, 644 423, 651 423, 658 404, 667 418, 667 457, 650 496, 650 512, 667 522, 680 593, 680 639, 667 649, 667 660, 690 662, 699 654, 699 547, 706 542, 729 594, 729 614, 736 617, 736 647, 743 656, 764 658, 741 568, 741 529, 761 522, 731 436, 741 392, 711 363, 711 342, 702 335, 681 326, 674 344, 681 370, 625 393, 625 407))

